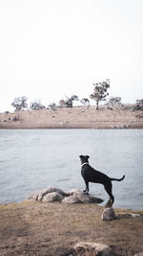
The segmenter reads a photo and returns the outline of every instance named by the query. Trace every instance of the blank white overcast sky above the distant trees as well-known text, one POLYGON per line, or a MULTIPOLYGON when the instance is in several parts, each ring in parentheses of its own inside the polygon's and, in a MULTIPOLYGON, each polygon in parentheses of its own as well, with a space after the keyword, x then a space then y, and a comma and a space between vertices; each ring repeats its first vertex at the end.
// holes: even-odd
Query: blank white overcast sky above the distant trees
POLYGON ((0 112, 24 95, 89 98, 106 79, 123 103, 143 98, 142 0, 0 0, 0 112))

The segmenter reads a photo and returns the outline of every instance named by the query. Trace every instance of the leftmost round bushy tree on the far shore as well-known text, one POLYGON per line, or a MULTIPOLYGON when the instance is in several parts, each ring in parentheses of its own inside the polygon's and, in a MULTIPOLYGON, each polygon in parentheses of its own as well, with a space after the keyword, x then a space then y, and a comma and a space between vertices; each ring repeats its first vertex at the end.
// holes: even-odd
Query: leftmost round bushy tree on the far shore
POLYGON ((28 104, 27 104, 27 97, 23 96, 23 97, 17 97, 13 100, 13 102, 11 103, 11 105, 13 107, 15 107, 15 111, 20 111, 20 110, 24 110, 25 108, 28 108, 28 104))

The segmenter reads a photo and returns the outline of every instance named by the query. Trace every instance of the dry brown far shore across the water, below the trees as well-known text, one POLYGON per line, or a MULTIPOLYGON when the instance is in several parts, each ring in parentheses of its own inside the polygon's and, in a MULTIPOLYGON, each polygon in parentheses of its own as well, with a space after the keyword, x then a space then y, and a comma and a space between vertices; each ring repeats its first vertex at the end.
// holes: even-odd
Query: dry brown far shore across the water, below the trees
POLYGON ((143 128, 143 110, 126 105, 7 111, 0 113, 0 128, 143 128))

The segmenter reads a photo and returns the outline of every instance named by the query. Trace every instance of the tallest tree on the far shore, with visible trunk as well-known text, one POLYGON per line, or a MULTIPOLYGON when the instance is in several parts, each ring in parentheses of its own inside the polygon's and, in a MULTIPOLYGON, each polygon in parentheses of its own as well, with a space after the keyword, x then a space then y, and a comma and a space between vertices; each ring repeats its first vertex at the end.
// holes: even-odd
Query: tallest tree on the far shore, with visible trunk
POLYGON ((93 83, 94 91, 90 95, 90 98, 96 102, 96 109, 99 108, 99 102, 106 101, 106 97, 109 95, 107 92, 110 88, 110 80, 93 83))

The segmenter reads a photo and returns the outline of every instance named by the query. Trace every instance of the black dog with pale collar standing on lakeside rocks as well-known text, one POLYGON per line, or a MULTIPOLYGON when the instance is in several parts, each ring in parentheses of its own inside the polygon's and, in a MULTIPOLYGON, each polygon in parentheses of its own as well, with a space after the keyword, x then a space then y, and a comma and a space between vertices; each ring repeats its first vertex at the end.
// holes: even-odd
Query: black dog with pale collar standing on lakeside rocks
POLYGON ((89 193, 89 182, 94 182, 94 183, 100 183, 104 185, 104 188, 108 195, 110 196, 110 199, 113 203, 114 198, 112 196, 112 180, 117 180, 121 181, 124 179, 125 175, 123 175, 122 178, 111 178, 107 175, 104 175, 96 170, 94 170, 90 165, 89 165, 89 155, 80 155, 80 160, 81 160, 81 175, 83 176, 85 183, 86 183, 86 192, 87 194, 89 193))

